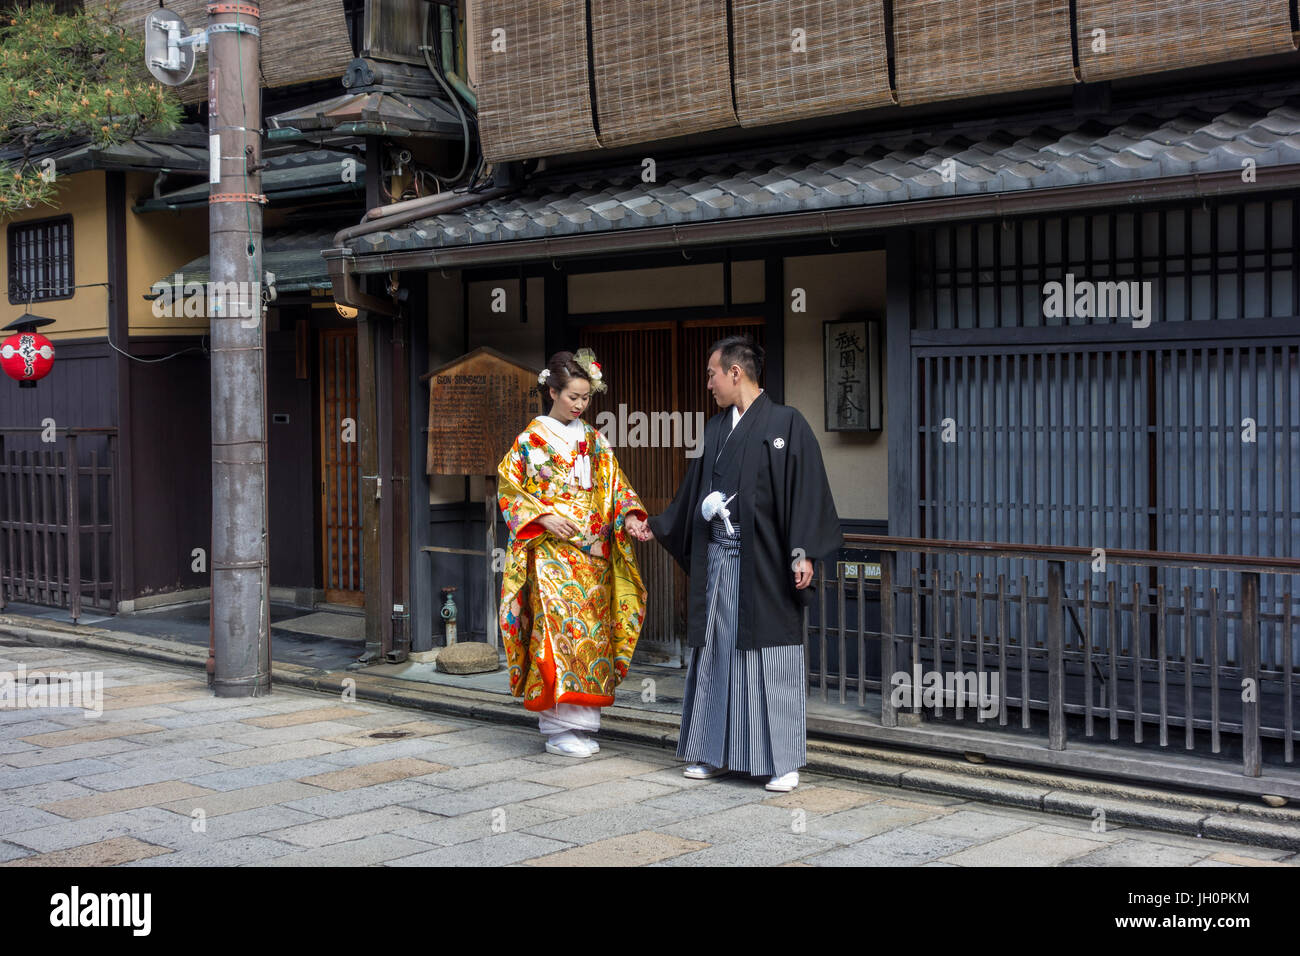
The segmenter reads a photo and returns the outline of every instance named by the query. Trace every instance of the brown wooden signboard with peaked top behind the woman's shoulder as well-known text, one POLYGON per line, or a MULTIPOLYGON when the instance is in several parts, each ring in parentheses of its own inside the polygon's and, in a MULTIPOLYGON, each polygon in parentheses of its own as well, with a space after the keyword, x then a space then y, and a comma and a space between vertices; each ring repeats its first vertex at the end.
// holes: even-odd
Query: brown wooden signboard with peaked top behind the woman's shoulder
POLYGON ((429 475, 495 475, 542 414, 538 369, 486 346, 422 376, 429 382, 429 475))

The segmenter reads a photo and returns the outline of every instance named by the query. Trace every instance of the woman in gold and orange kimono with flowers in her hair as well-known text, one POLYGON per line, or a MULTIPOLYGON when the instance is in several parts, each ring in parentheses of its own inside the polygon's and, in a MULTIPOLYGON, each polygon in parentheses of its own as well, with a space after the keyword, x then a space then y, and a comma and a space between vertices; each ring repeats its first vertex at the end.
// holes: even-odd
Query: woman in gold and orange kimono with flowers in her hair
POLYGON ((500 632, 510 692, 538 715, 547 753, 590 757, 588 736, 628 674, 646 592, 629 535, 646 511, 604 437, 582 420, 603 392, 590 349, 556 352, 537 378, 538 415, 500 460, 510 528, 500 632))

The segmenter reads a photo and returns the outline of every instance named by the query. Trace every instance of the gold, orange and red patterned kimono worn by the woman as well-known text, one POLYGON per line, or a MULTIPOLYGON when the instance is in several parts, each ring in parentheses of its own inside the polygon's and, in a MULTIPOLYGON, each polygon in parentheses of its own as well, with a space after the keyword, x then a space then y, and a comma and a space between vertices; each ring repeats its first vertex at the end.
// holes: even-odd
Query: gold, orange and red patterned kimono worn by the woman
POLYGON ((528 710, 614 704, 645 620, 646 591, 623 524, 646 512, 604 438, 582 427, 585 441, 569 447, 547 420, 533 419, 497 470, 510 528, 500 633, 510 692, 528 710), (589 489, 575 476, 584 453, 589 489), (547 514, 578 532, 556 537, 537 522, 547 514))

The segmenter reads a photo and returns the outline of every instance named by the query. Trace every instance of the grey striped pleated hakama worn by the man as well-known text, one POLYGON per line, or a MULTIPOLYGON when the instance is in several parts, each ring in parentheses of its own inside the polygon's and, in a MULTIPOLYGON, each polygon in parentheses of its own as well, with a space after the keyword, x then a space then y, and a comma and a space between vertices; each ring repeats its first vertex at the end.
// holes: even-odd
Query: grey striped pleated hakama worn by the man
POLYGON ((740 650, 740 529, 708 523, 708 622, 692 648, 677 757, 754 777, 807 762, 803 645, 740 650))

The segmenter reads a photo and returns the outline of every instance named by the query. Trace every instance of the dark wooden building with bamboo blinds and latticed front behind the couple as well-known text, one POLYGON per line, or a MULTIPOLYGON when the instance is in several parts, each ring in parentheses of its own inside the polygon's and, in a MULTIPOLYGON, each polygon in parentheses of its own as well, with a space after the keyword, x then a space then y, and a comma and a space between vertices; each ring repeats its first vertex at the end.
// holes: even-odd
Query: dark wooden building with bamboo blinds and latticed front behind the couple
MULTIPOLYGON (((410 403, 404 432, 377 419, 410 512, 372 640, 439 644, 447 585, 469 592, 462 635, 493 636, 481 562, 425 550, 481 549, 490 489, 422 472, 421 375, 592 345, 611 411, 707 411, 703 351, 748 330, 846 532, 810 680, 874 717, 810 727, 1300 793, 1295 4, 1044 3, 1014 30, 994 0, 545 7, 471 4, 480 200, 325 252, 376 354, 410 355, 404 397, 377 382, 410 403), (828 418, 846 320, 879 329, 876 431, 828 418), (900 726, 911 663, 992 671, 997 713, 900 726), (1260 700, 1235 701, 1243 680, 1260 700), (1124 741, 1214 760, 1153 771, 1124 741)), ((624 454, 656 510, 684 450, 624 454)), ((663 609, 645 659, 673 661, 680 581, 638 553, 663 609)))

